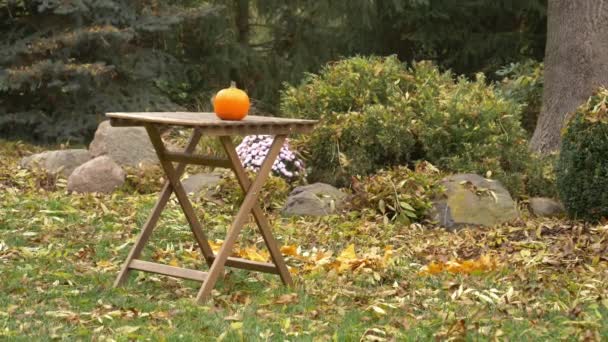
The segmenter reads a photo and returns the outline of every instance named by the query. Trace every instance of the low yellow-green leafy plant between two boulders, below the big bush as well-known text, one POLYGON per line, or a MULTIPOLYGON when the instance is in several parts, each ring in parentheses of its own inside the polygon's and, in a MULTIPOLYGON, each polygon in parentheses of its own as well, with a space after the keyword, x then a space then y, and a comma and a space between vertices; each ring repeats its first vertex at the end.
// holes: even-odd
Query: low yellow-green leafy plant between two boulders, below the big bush
POLYGON ((406 224, 420 221, 433 206, 433 198, 443 191, 438 179, 438 173, 416 172, 404 166, 357 177, 351 205, 355 209, 374 208, 388 219, 406 224))

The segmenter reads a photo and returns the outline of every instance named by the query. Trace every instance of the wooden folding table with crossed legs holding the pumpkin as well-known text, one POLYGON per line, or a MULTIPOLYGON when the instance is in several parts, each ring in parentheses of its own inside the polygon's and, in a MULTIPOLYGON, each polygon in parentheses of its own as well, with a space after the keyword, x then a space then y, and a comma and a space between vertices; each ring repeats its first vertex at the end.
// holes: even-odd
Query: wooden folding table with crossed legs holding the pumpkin
POLYGON ((272 236, 271 227, 264 216, 260 206, 257 204, 260 189, 268 178, 272 165, 278 156, 287 135, 290 133, 309 133, 316 121, 285 119, 263 116, 247 116, 241 121, 224 121, 218 119, 213 113, 192 112, 170 112, 170 113, 107 113, 112 126, 143 126, 146 128, 150 141, 156 150, 160 164, 167 176, 160 196, 154 205, 152 213, 144 224, 144 227, 135 241, 135 245, 129 252, 122 269, 114 282, 114 286, 123 284, 131 270, 153 272, 173 277, 192 279, 202 282, 202 286, 196 297, 198 303, 209 299, 220 274, 223 274, 224 266, 254 270, 266 273, 278 274, 285 285, 291 286, 293 281, 289 270, 285 265, 280 248, 272 236), (160 136, 160 128, 166 126, 182 126, 192 128, 193 133, 183 152, 169 151, 160 136), (268 154, 262 163, 257 177, 253 182, 247 176, 241 161, 236 153, 231 136, 264 134, 274 136, 268 154), (194 154, 196 145, 203 135, 216 136, 219 138, 227 158, 217 158, 194 154), (173 165, 177 162, 177 166, 173 165), (184 191, 180 176, 186 165, 197 164, 215 167, 231 168, 239 182, 241 189, 245 192, 245 198, 227 231, 226 239, 219 252, 213 253, 207 240, 201 223, 194 213, 192 204, 184 191), (161 212, 165 208, 171 193, 174 193, 186 216, 190 230, 194 235, 202 255, 210 267, 209 272, 185 269, 169 265, 138 259, 141 251, 150 238, 161 212), (259 231, 270 252, 272 263, 257 262, 242 258, 231 257, 234 243, 246 223, 249 213, 253 214, 259 231))

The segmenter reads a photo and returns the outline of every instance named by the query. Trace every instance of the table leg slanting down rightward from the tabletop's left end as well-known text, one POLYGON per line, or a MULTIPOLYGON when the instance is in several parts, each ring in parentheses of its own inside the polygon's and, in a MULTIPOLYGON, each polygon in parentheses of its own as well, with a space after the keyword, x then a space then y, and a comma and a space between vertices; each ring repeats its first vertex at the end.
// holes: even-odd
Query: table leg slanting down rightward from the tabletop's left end
POLYGON ((148 135, 150 136, 150 141, 152 142, 152 146, 156 150, 156 155, 158 156, 158 160, 165 171, 165 175, 173 188, 173 192, 177 197, 177 201, 182 207, 182 211, 186 216, 186 220, 190 226, 190 230, 194 234, 194 238, 201 249, 203 256, 205 257, 205 261, 209 266, 213 263, 213 250, 209 245, 209 241, 207 240, 207 236, 203 232, 203 228, 194 213, 194 208, 192 208, 192 204, 188 199, 188 195, 182 186, 182 182, 179 180, 179 175, 176 170, 173 168, 173 164, 171 161, 165 159, 165 145, 163 144, 162 139, 160 138, 160 133, 158 128, 152 124, 146 125, 146 130, 148 131, 148 135))

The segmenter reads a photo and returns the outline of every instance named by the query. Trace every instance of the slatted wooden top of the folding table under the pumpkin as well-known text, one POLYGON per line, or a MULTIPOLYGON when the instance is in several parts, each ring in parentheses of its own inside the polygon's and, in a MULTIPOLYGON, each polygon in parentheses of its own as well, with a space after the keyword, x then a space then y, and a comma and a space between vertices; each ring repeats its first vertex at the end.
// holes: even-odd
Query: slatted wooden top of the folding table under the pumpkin
POLYGON ((200 129, 207 135, 291 134, 312 131, 316 120, 247 115, 243 120, 221 120, 215 113, 141 112, 106 113, 110 124, 118 127, 146 124, 184 126, 200 129))

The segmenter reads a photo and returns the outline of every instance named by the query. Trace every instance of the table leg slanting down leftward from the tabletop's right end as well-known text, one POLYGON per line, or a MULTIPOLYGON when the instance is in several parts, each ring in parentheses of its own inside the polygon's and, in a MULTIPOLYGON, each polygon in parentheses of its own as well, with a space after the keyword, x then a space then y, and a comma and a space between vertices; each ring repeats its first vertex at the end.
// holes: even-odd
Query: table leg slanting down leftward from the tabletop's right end
MULTIPOLYGON (((211 295, 211 290, 213 290, 213 287, 215 286, 218 276, 222 273, 222 271, 224 269, 224 264, 226 263, 226 260, 228 259, 228 257, 230 256, 230 254, 232 252, 232 247, 234 246, 234 243, 235 243, 239 233, 241 232, 243 225, 245 224, 245 222, 247 220, 249 212, 251 211, 251 209, 253 208, 254 204, 257 201, 257 197, 259 196, 260 189, 262 188, 262 185, 264 185, 264 182, 266 181, 266 179, 268 178, 268 175, 270 174, 270 170, 272 169, 272 164, 274 164, 276 157, 279 155, 279 152, 281 151, 281 147, 283 146, 283 143, 285 142, 285 138, 286 138, 285 135, 277 135, 275 137, 272 145, 270 146, 268 155, 266 156, 266 159, 264 159, 264 162, 262 163, 262 166, 260 167, 260 171, 258 172, 256 179, 249 186, 249 189, 245 195, 245 199, 243 200, 243 203, 241 204, 239 211, 237 212, 234 220, 232 221, 232 224, 230 225, 230 229, 228 230, 228 235, 226 236, 226 240, 224 241, 224 244, 222 245, 222 247, 220 248, 220 251, 216 255, 215 261, 211 265, 211 269, 209 270, 207 279, 203 283, 203 286, 201 287, 201 289, 198 292, 198 295, 196 296, 196 301, 198 303, 202 303, 202 302, 206 301, 207 299, 209 299, 209 297, 211 295)), ((239 161, 239 163, 240 163, 240 161, 239 161)), ((234 169, 236 169, 236 166, 234 165, 235 164, 234 161, 232 161, 232 164, 233 164, 234 169)))

